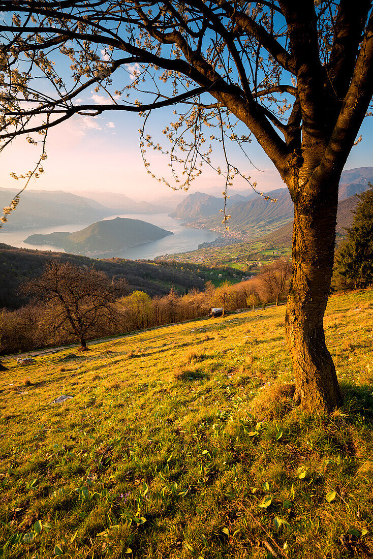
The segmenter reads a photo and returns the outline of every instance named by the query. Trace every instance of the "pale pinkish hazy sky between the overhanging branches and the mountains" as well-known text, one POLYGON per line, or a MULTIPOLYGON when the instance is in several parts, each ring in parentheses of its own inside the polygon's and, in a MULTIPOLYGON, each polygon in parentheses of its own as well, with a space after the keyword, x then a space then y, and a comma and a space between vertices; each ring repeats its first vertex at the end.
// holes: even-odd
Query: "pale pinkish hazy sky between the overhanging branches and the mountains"
MULTIPOLYGON (((94 92, 92 100, 100 102, 94 92)), ((160 143, 166 140, 160 132, 166 122, 172 119, 169 109, 159 110, 152 116, 150 132, 160 143), (159 133, 158 133, 159 130, 159 133)), ((32 181, 29 188, 37 190, 79 190, 122 192, 135 200, 157 200, 159 196, 172 195, 173 191, 164 184, 152 179, 146 172, 139 148, 141 119, 136 113, 106 112, 100 117, 79 117, 49 131, 47 153, 44 163, 45 175, 32 181)), ((347 169, 373 165, 371 144, 373 141, 373 119, 365 120, 359 134, 362 141, 353 148, 347 169)), ((209 132, 207 132, 209 138, 209 132)), ((167 140, 166 140, 167 141, 167 140)), ((167 147, 166 143, 164 146, 167 147)), ((259 191, 283 188, 277 170, 273 167, 255 140, 248 146, 252 162, 261 171, 252 167, 238 149, 230 148, 232 163, 237 164, 243 173, 250 173, 258 182, 259 191)), ((168 173, 167 155, 150 150, 149 161, 157 174, 168 173)), ((216 151, 215 162, 224 165, 221 154, 216 151)), ((24 138, 17 139, 12 146, 0 154, 0 181, 2 187, 21 187, 22 181, 10 177, 11 172, 25 173, 39 158, 39 148, 30 145, 24 138)), ((189 192, 218 191, 224 186, 219 177, 209 167, 204 168, 201 176, 192 183, 189 192)), ((242 179, 237 180, 237 190, 249 185, 242 179)))

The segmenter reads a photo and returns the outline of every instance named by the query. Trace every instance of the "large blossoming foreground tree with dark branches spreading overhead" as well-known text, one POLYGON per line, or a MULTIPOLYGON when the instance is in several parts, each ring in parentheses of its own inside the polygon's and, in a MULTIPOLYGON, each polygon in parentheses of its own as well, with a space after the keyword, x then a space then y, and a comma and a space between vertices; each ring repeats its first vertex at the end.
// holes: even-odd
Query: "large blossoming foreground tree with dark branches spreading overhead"
MULTIPOLYGON (((294 202, 286 337, 295 400, 314 411, 337 406, 323 316, 339 177, 373 92, 370 0, 18 0, 0 10, 3 146, 18 134, 37 141, 34 132, 76 114, 139 111, 146 123, 149 111, 173 105, 164 134, 176 186, 187 187, 200 165, 214 164, 204 125, 221 147, 226 185, 240 173, 226 140, 244 150, 254 136, 294 202), (84 101, 93 87, 100 105, 84 101)), ((143 154, 147 146, 162 149, 141 127, 143 154)))

